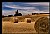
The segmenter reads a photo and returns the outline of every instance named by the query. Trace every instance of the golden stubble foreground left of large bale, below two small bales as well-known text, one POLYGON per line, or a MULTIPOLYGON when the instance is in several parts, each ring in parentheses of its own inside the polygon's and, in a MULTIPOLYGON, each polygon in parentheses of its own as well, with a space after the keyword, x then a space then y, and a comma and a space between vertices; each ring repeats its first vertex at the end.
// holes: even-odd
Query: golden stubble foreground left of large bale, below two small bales
POLYGON ((26 24, 26 23, 4 23, 2 26, 3 32, 33 32, 34 28, 32 24, 26 24))

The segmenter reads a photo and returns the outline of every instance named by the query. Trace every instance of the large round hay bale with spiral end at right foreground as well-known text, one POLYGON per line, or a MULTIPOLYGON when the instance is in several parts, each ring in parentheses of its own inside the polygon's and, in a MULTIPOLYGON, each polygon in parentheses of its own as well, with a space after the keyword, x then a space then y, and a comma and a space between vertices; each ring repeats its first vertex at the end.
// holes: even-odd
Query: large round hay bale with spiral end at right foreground
POLYGON ((48 22, 49 19, 47 17, 39 18, 34 25, 36 32, 48 32, 48 22))

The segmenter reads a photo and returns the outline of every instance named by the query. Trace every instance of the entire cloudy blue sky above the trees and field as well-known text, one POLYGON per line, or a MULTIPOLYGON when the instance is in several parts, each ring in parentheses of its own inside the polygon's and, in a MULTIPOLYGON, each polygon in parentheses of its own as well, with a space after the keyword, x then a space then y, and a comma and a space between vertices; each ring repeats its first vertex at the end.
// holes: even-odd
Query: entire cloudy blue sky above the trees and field
POLYGON ((2 2, 2 15, 49 13, 49 2, 2 2))

